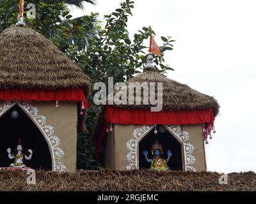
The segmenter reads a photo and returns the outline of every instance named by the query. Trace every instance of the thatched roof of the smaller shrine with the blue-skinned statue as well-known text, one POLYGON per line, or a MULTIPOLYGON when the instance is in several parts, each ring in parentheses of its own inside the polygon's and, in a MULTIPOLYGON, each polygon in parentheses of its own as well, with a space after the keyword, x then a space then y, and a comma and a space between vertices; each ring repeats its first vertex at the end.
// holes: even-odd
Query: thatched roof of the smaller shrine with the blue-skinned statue
MULTIPOLYGON (((129 82, 163 82, 163 110, 202 110, 206 108, 212 108, 214 116, 218 115, 220 105, 212 96, 207 96, 202 94, 195 89, 192 89, 186 84, 181 84, 175 82, 167 77, 164 77, 161 73, 158 73, 156 69, 154 70, 145 70, 143 73, 136 75, 136 77, 131 78, 125 82, 127 87, 127 105, 114 105, 118 108, 127 108, 127 109, 143 109, 149 110, 151 105, 143 104, 143 89, 141 89, 141 104, 136 105, 136 92, 134 89, 134 103, 129 105, 129 92, 131 93, 131 87, 129 88, 129 82)), ((157 92, 157 85, 155 87, 157 92)), ((114 96, 122 92, 121 86, 118 91, 114 92, 114 96)), ((122 94, 118 94, 122 95, 122 94)), ((157 93, 156 93, 157 97, 157 93)))

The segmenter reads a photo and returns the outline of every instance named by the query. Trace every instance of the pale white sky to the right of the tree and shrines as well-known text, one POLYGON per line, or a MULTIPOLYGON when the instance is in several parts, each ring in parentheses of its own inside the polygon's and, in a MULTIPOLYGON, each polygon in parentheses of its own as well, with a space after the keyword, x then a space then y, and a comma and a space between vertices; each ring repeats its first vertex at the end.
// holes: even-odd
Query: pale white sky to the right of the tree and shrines
MULTIPOLYGON (((74 16, 119 7, 122 0, 97 0, 74 16)), ((173 36, 174 49, 165 55, 175 69, 168 77, 214 96, 220 105, 216 134, 207 145, 207 170, 256 170, 256 1, 134 0, 129 32, 151 25, 160 36, 173 36)))

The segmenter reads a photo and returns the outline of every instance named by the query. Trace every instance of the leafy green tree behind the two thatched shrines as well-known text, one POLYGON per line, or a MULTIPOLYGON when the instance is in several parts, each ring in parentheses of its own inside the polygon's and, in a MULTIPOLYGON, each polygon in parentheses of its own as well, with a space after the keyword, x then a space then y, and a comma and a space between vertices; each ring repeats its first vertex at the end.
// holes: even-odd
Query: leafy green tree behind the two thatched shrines
MULTIPOLYGON (((92 85, 95 82, 108 84, 108 77, 114 82, 124 82, 134 74, 140 73, 147 58, 150 34, 155 32, 150 26, 142 27, 131 39, 127 30, 128 18, 132 15, 134 2, 125 0, 120 8, 109 15, 104 15, 105 22, 98 19, 99 13, 91 13, 79 18, 72 18, 67 3, 83 8, 83 1, 40 1, 36 4, 36 19, 26 19, 26 24, 50 38, 62 52, 86 73, 92 85), (75 3, 76 2, 76 3, 75 3), (103 25, 104 24, 104 25, 103 25)), ((88 1, 95 3, 95 1, 88 1)), ((32 3, 27 0, 26 3, 32 3)), ((0 1, 0 31, 17 22, 17 4, 13 0, 0 1), (3 4, 4 2, 4 4, 3 4)), ((172 38, 162 36, 163 45, 160 47, 162 56, 155 56, 154 62, 159 65, 159 71, 166 73, 173 70, 164 62, 166 50, 172 50, 172 38)), ((94 92, 92 93, 93 96, 94 92)), ((78 135, 77 168, 98 169, 99 164, 94 158, 94 147, 90 133, 95 124, 99 107, 90 99, 88 133, 78 135)))

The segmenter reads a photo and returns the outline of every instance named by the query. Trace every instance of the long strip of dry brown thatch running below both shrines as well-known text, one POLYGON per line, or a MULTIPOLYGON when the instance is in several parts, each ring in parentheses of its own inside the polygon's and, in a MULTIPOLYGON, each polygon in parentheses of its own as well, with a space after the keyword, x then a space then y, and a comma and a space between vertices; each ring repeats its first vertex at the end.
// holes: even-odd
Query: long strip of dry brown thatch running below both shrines
POLYGON ((36 171, 36 184, 28 185, 26 171, 0 171, 1 191, 256 191, 256 173, 229 173, 219 184, 216 172, 36 171))

